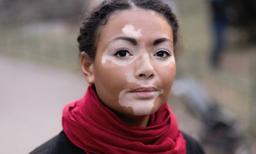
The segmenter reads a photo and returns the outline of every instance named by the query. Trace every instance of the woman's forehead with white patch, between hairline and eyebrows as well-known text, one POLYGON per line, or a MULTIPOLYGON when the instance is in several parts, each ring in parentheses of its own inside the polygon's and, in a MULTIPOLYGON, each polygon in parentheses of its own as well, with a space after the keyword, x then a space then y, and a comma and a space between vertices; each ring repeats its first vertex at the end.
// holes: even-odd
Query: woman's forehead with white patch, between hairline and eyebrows
MULTIPOLYGON (((100 36, 116 33, 133 34, 141 36, 150 32, 170 32, 171 25, 160 13, 152 10, 132 9, 112 14, 107 23, 100 28, 100 36)), ((171 30, 172 31, 172 30, 171 30)))

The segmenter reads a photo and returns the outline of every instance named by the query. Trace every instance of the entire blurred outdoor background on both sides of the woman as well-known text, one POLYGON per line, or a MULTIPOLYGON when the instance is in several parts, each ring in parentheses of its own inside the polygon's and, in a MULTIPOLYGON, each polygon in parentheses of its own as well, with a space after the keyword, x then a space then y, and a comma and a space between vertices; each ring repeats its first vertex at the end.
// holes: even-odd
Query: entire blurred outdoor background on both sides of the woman
MULTIPOLYGON (((207 154, 256 154, 256 1, 164 0, 177 14, 169 103, 207 154)), ((98 0, 0 0, 0 153, 28 154, 85 93, 76 38, 98 0)))

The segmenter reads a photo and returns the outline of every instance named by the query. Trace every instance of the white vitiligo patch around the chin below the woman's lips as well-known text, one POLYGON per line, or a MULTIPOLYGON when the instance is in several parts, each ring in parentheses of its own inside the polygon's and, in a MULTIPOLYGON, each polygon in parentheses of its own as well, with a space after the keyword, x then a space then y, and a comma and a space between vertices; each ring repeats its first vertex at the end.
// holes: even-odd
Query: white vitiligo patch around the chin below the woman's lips
POLYGON ((163 90, 159 90, 158 94, 152 99, 137 99, 129 91, 130 89, 122 90, 118 102, 123 107, 131 107, 134 116, 150 115, 156 98, 163 93, 163 90))

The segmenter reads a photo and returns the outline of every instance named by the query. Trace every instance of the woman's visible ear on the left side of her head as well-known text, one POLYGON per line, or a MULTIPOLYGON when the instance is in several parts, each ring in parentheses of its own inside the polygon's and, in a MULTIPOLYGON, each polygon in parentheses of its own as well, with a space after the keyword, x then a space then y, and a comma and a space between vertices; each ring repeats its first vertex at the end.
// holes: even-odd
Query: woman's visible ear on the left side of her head
POLYGON ((89 84, 94 83, 94 67, 93 59, 88 56, 85 51, 80 54, 80 62, 82 66, 83 75, 89 84))

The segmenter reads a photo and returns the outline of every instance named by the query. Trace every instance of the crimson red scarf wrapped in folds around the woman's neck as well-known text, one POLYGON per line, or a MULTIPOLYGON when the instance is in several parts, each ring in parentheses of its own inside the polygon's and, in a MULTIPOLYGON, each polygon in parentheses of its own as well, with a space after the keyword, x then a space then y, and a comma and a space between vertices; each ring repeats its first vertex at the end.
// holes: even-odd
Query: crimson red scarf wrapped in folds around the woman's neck
POLYGON ((165 103, 148 127, 128 127, 103 105, 90 85, 85 96, 63 110, 62 127, 87 154, 185 154, 185 140, 165 103))

